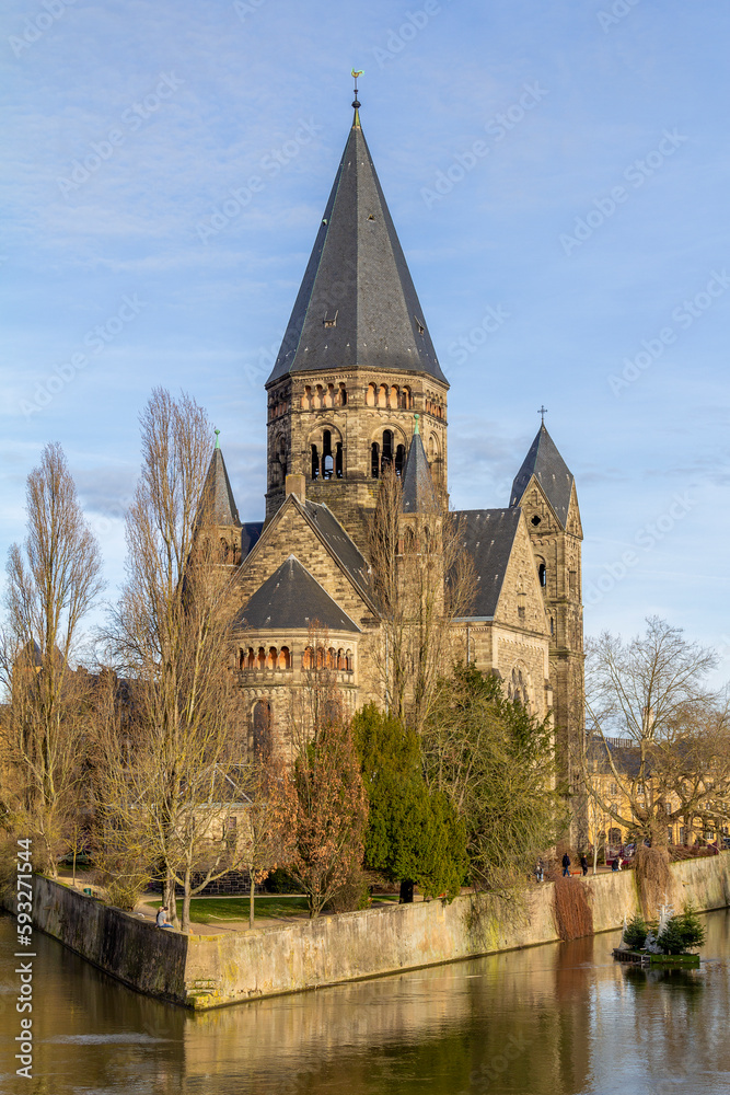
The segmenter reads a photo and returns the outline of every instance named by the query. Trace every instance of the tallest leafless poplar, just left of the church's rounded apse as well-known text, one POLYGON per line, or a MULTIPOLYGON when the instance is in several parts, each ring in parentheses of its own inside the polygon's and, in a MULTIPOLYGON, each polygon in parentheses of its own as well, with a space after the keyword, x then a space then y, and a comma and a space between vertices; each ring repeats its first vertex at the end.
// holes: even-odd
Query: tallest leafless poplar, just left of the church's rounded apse
MULTIPOLYGON (((236 722, 228 636, 230 575, 212 498, 204 497, 210 426, 187 395, 155 390, 141 416, 142 473, 127 517, 127 583, 111 647, 131 680, 134 757, 113 770, 162 864, 164 901, 189 902, 239 861, 227 833, 236 800, 236 722), (197 876, 197 880, 196 880, 197 876)), ((108 739, 107 739, 108 740, 108 739)), ((112 771, 112 768, 109 768, 112 771)))

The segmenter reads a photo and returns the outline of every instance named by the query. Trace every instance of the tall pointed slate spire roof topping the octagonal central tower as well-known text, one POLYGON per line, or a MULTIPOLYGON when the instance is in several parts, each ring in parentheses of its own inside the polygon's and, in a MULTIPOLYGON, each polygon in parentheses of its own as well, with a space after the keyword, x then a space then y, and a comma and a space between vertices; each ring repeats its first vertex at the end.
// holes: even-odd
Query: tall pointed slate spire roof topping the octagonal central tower
POLYGON ((356 115, 267 385, 357 367, 445 383, 356 115))

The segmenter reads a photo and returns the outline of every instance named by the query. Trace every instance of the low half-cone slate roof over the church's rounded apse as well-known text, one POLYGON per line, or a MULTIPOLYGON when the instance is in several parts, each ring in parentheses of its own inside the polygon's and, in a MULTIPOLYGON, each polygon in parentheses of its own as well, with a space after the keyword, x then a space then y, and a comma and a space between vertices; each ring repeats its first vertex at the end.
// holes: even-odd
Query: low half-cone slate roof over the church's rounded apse
POLYGON ((235 625, 257 631, 288 631, 306 629, 315 620, 331 631, 360 631, 316 578, 290 555, 259 586, 237 614, 235 625))

